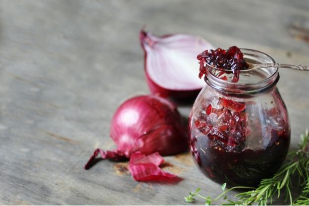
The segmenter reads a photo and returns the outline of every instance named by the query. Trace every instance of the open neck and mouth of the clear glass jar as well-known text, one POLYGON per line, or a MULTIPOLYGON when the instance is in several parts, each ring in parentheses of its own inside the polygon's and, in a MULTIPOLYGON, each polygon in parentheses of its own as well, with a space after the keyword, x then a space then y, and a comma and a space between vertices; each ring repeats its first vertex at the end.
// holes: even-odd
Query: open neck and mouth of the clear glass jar
MULTIPOLYGON (((265 64, 275 63, 275 60, 261 52, 250 49, 240 49, 244 54, 244 59, 248 63, 265 64)), ((266 93, 275 88, 279 81, 280 75, 278 67, 266 67, 258 69, 241 70, 239 74, 239 81, 232 82, 234 74, 225 72, 225 80, 220 78, 222 70, 219 70, 206 63, 206 83, 215 90, 230 96, 256 96, 266 93), (226 80, 227 79, 227 80, 226 80)))

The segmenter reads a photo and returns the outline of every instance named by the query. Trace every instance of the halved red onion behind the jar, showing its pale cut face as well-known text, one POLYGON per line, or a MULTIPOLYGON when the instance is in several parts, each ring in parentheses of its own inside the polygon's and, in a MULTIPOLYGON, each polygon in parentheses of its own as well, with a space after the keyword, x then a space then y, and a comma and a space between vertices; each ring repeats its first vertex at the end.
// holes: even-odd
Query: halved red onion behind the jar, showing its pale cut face
POLYGON ((146 79, 152 94, 161 97, 196 97, 205 85, 199 76, 196 57, 214 47, 204 39, 187 34, 154 36, 142 30, 146 79))

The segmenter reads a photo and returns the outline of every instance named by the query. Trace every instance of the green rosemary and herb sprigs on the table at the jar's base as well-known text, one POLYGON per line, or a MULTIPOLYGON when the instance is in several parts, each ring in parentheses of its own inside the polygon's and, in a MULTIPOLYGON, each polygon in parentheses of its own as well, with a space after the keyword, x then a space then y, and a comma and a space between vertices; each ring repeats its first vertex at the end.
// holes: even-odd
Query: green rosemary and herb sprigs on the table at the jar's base
MULTIPOLYGON (((282 192, 285 192, 285 202, 289 200, 290 205, 309 205, 309 131, 308 129, 301 136, 300 148, 297 151, 291 151, 287 156, 287 161, 283 164, 278 172, 272 178, 262 179, 257 188, 251 187, 232 187, 225 190, 226 183, 222 185, 223 192, 216 198, 211 199, 209 196, 204 197, 199 194, 198 188, 195 192, 189 193, 185 197, 187 202, 194 202, 195 196, 205 200, 205 205, 211 205, 213 201, 218 200, 231 190, 235 189, 253 189, 247 192, 237 194, 236 201, 227 200, 223 205, 267 205, 272 204, 273 198, 279 198, 282 192), (298 186, 302 188, 302 193, 298 198, 293 200, 292 197, 292 177, 298 179, 298 186)), ((224 196, 223 199, 227 199, 224 196)))

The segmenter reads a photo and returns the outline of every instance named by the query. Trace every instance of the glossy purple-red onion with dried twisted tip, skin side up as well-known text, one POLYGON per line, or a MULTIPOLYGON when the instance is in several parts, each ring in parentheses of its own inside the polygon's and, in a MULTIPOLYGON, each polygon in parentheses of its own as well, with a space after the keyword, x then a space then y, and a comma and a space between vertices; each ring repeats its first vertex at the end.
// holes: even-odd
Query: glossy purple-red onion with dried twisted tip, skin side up
POLYGON ((103 159, 122 160, 139 151, 143 154, 177 154, 188 148, 187 131, 177 107, 157 96, 138 96, 122 103, 113 115, 110 137, 114 151, 96 149, 85 169, 101 154, 103 159))

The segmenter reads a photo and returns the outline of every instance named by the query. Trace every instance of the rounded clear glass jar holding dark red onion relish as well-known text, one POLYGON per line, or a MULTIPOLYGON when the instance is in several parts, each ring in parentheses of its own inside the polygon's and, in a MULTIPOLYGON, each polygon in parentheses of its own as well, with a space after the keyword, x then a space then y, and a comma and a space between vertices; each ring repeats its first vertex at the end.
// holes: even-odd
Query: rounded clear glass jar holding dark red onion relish
MULTIPOLYGON (((249 63, 275 62, 260 51, 241 51, 249 63)), ((206 70, 206 85, 189 117, 191 152, 215 182, 257 185, 278 170, 290 145, 288 112, 276 88, 278 68, 242 70, 237 83, 231 71, 210 65, 206 70)))

